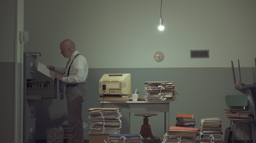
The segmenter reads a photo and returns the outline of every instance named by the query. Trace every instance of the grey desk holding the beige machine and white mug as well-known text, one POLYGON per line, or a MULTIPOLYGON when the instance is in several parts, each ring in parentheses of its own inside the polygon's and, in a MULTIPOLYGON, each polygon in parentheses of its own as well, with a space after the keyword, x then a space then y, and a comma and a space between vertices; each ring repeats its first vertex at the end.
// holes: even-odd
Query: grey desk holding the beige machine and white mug
POLYGON ((130 134, 131 113, 164 113, 164 133, 170 127, 170 101, 101 101, 101 105, 104 108, 119 108, 122 114, 122 134, 130 134))

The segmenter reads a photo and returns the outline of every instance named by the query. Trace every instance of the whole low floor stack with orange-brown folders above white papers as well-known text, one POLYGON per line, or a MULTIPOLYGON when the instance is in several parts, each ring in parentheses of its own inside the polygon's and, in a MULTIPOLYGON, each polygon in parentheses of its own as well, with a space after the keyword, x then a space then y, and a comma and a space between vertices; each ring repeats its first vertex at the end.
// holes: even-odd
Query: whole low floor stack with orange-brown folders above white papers
POLYGON ((170 142, 194 143, 198 135, 199 135, 199 129, 197 128, 171 126, 167 131, 167 133, 165 133, 162 141, 164 143, 170 143, 170 142))

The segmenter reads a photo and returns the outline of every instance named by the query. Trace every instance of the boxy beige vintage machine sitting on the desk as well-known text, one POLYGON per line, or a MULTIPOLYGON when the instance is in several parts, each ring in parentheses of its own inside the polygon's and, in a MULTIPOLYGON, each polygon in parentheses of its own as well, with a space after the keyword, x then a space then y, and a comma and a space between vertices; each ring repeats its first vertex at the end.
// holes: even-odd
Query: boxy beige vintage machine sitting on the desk
POLYGON ((131 74, 103 74, 100 79, 100 95, 131 94, 131 74))

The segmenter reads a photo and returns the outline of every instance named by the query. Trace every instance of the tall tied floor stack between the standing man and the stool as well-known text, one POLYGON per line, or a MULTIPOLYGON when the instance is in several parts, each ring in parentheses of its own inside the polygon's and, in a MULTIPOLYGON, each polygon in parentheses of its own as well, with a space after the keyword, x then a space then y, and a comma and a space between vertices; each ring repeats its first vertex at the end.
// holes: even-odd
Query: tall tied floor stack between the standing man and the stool
POLYGON ((120 134, 122 126, 119 108, 89 108, 89 134, 120 134))

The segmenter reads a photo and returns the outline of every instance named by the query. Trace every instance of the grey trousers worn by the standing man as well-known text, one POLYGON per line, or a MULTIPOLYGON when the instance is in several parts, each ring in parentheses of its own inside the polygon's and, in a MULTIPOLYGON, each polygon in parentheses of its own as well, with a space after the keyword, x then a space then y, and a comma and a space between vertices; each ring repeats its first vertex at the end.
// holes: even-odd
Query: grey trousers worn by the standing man
POLYGON ((68 106, 68 120, 73 133, 73 142, 83 142, 83 119, 82 119, 82 102, 85 99, 85 83, 67 86, 66 98, 68 106))

